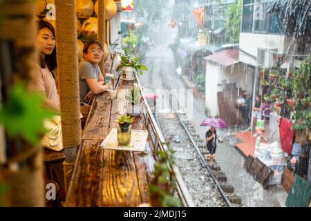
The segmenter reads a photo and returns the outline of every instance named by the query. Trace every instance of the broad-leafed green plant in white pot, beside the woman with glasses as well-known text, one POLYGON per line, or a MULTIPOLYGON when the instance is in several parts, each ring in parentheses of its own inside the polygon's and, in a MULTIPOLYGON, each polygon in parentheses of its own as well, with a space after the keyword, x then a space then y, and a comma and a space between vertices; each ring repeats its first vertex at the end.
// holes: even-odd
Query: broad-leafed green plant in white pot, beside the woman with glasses
POLYGON ((123 79, 133 80, 134 69, 142 75, 142 70, 148 70, 146 66, 138 64, 138 57, 131 57, 124 52, 124 55, 121 55, 121 63, 117 66, 117 71, 123 70, 123 79))

